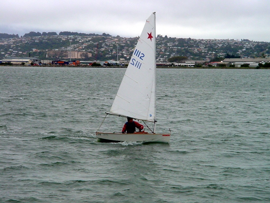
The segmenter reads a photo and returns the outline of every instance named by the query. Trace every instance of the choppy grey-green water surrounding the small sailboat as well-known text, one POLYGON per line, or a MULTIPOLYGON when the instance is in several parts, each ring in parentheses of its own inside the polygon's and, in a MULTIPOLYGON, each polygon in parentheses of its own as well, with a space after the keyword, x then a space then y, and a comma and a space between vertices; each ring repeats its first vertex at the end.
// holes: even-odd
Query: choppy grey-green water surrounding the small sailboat
POLYGON ((124 71, 0 68, 0 202, 270 202, 269 70, 158 69, 170 143, 99 143, 124 71))

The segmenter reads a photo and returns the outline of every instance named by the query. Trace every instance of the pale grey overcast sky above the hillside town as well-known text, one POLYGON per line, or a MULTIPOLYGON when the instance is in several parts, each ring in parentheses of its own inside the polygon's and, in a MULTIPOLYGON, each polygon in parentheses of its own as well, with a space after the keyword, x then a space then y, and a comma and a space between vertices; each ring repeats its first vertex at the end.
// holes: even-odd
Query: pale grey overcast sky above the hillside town
POLYGON ((156 12, 157 34, 270 41, 269 0, 8 0, 0 32, 72 31, 136 37, 156 12))

